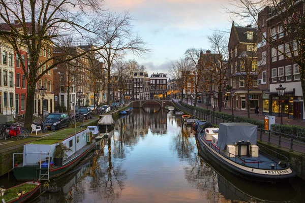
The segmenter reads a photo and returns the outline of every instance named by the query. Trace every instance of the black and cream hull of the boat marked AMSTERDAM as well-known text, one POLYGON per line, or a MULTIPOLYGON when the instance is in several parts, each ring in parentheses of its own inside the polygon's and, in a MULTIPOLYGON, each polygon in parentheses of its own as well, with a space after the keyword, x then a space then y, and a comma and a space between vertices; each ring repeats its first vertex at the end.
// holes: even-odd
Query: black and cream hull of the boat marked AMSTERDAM
POLYGON ((264 170, 237 164, 223 157, 213 148, 211 148, 207 142, 200 138, 200 132, 197 133, 197 140, 199 142, 201 151, 208 159, 215 161, 220 167, 239 177, 253 181, 277 182, 287 180, 295 176, 295 172, 293 172, 290 168, 284 170, 264 170))

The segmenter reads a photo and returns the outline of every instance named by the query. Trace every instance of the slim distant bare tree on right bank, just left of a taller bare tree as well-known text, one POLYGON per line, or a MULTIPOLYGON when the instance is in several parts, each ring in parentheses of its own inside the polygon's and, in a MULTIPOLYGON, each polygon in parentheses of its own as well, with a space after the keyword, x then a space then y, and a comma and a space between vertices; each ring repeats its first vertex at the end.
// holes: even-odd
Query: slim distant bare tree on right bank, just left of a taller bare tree
POLYGON ((200 65, 200 53, 202 52, 202 49, 196 49, 196 48, 190 48, 185 52, 186 59, 189 61, 189 64, 191 65, 191 72, 195 73, 195 77, 191 77, 191 80, 194 84, 195 89, 195 101, 194 106, 197 105, 197 96, 198 96, 198 90, 200 81, 203 78, 203 66, 200 65))

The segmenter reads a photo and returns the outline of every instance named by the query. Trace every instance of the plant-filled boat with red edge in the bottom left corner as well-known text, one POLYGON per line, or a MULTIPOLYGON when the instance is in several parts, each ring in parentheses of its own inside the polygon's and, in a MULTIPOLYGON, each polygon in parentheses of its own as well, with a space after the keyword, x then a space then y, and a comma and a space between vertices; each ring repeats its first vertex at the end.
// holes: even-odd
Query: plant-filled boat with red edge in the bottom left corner
POLYGON ((14 187, 8 188, 4 196, 0 197, 5 203, 24 202, 40 188, 39 182, 25 182, 14 187))

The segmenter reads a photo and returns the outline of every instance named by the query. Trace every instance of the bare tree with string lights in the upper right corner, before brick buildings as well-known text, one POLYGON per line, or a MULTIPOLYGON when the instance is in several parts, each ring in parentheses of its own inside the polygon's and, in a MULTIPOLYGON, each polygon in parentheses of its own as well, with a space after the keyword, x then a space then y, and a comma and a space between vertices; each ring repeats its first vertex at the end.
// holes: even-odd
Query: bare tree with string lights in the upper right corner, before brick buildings
MULTIPOLYGON (((304 1, 281 1, 281 0, 233 0, 231 3, 234 7, 227 11, 234 17, 252 24, 256 24, 261 32, 263 40, 267 42, 271 48, 283 55, 286 59, 296 63, 298 66, 296 72, 300 74, 302 87, 302 95, 305 98, 305 18, 304 18, 304 1), (263 35, 263 27, 267 22, 262 23, 258 20, 258 16, 263 9, 267 9, 267 18, 279 27, 272 26, 270 36, 263 35), (275 37, 281 33, 283 37, 275 37), (285 36, 284 36, 285 35, 285 36), (279 44, 285 44, 284 49, 279 44)), ((305 103, 303 102, 305 107, 305 103)))

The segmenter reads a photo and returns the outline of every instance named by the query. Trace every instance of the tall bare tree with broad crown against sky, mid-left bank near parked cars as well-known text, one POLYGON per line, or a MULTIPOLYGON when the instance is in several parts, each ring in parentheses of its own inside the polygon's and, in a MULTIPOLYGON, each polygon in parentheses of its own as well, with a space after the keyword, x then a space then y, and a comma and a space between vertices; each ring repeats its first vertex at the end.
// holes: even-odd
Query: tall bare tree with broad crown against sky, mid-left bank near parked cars
POLYGON ((99 40, 105 44, 100 54, 107 71, 107 104, 110 104, 110 79, 113 62, 121 59, 128 50, 138 56, 142 56, 149 49, 146 48, 146 43, 141 37, 134 35, 130 13, 117 14, 108 12, 104 20, 107 29, 99 40))

